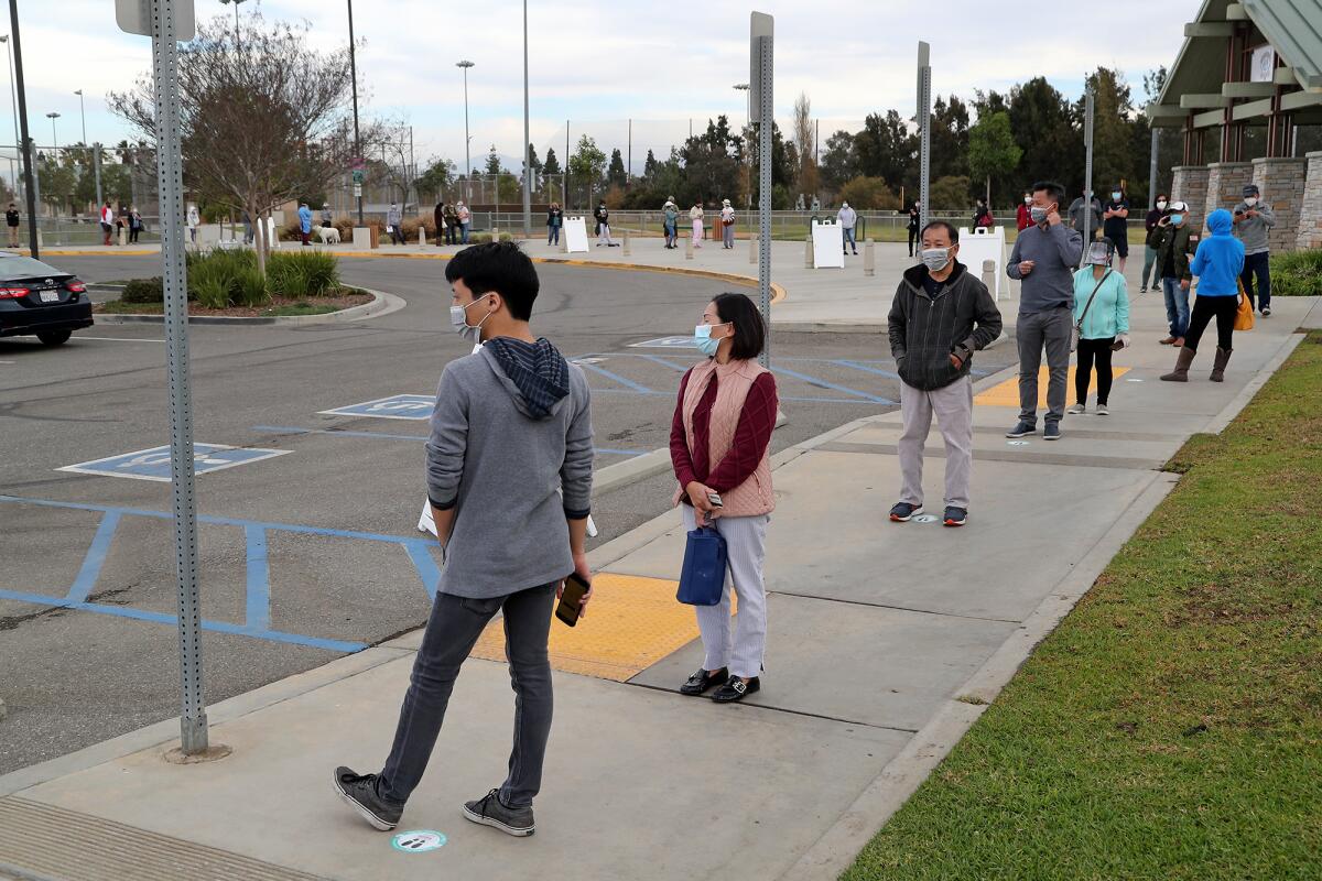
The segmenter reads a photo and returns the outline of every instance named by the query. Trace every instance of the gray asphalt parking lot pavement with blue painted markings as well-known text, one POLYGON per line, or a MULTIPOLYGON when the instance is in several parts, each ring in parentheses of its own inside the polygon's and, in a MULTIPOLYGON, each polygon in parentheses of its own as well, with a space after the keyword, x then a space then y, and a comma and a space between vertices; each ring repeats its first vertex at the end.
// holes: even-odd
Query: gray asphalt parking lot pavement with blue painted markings
MULTIPOLYGON (((91 279, 147 258, 70 258, 91 279)), ((436 262, 345 262, 406 309, 345 325, 190 329, 208 699, 419 626, 438 559, 416 531, 448 328, 436 262)), ((718 280, 539 267, 537 328, 587 372, 598 466, 664 446, 718 280)), ((783 449, 894 407, 884 341, 777 334, 783 449)), ((981 371, 1003 366, 995 350, 981 371)), ((0 773, 177 712, 168 392, 159 325, 61 349, 0 341, 0 773), (22 736, 19 736, 22 732, 22 736)), ((665 474, 595 499, 609 540, 662 512, 665 474)))

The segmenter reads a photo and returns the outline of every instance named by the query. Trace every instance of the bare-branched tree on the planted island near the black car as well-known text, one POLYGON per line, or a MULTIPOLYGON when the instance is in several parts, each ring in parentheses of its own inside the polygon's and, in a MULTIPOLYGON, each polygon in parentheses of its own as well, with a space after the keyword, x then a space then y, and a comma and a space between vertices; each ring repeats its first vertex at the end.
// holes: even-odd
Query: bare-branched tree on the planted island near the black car
MULTIPOLYGON (((178 59, 180 135, 188 186, 254 222, 292 198, 324 189, 354 156, 348 48, 308 48, 308 25, 245 21, 242 40, 223 16, 200 24, 178 59)), ((149 74, 111 92, 112 112, 155 141, 149 74)), ((364 152, 377 127, 364 129, 364 152)), ((258 229, 262 225, 256 225, 258 229)), ((266 271, 264 235, 258 265, 266 271)))

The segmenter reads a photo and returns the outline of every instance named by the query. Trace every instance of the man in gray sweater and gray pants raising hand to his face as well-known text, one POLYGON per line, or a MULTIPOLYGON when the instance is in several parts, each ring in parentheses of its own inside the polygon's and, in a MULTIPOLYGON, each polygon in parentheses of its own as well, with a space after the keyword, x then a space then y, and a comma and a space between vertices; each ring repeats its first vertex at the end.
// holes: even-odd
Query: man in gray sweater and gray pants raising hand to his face
POLYGON ((1047 416, 1044 440, 1060 440, 1066 415, 1066 379, 1069 375, 1069 337, 1073 330, 1073 271, 1083 258, 1083 235, 1060 221, 1059 184, 1032 185, 1032 226, 1019 234, 1006 264, 1006 275, 1019 285, 1019 423, 1006 437, 1025 437, 1038 428, 1038 369, 1047 351, 1047 416))

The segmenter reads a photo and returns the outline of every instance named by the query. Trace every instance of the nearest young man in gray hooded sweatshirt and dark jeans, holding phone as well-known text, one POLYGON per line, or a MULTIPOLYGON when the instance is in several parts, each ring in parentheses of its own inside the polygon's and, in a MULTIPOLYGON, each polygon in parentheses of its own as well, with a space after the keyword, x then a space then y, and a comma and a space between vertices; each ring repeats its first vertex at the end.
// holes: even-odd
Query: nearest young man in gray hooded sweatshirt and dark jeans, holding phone
MULTIPOLYGON (((538 280, 518 246, 479 244, 446 264, 451 324, 480 351, 446 366, 427 440, 427 491, 446 561, 394 746, 379 774, 338 767, 336 790, 393 829, 422 779, 459 667, 497 612, 516 693, 505 782, 464 816, 509 835, 535 831, 533 798, 551 730, 547 635, 563 581, 590 581, 592 494, 587 379, 529 328, 538 280)), ((584 597, 586 605, 591 597, 584 597)))

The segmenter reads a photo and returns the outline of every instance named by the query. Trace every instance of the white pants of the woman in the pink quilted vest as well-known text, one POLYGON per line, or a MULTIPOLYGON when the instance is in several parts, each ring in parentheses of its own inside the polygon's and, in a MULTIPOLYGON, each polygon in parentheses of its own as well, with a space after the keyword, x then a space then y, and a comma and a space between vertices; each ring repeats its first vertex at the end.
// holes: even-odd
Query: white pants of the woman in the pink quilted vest
MULTIPOLYGON (((697 528, 693 507, 681 505, 685 530, 697 528)), ((713 520, 726 540, 730 576, 720 602, 714 606, 694 606, 698 613, 698 631, 706 649, 703 670, 730 668, 731 676, 760 676, 761 658, 767 650, 767 584, 763 563, 767 560, 767 524, 771 516, 720 516, 713 520), (730 585, 739 596, 735 616, 734 642, 730 627, 730 585)))

